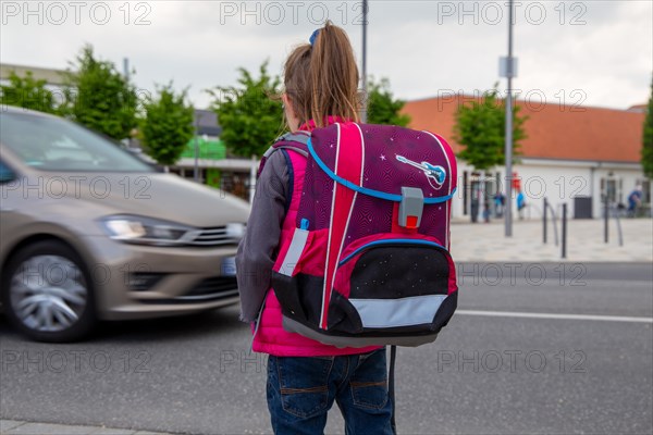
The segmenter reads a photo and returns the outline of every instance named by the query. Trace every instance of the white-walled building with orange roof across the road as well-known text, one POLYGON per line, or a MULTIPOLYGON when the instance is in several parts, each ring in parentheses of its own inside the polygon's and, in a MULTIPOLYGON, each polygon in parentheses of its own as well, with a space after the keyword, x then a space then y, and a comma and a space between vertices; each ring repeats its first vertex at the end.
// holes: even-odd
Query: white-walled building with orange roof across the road
MULTIPOLYGON (((403 113, 410 115, 411 128, 444 136, 457 153, 464 146, 454 139, 456 112, 475 100, 480 97, 449 92, 408 101, 403 113)), ((640 163, 646 105, 618 110, 547 103, 541 98, 517 100, 516 104, 520 115, 528 116, 523 124, 527 138, 514 165, 530 206, 525 217, 541 216, 544 198, 554 209, 568 203, 570 216, 599 217, 606 196, 613 206, 627 203, 637 185, 642 186, 643 202, 651 203, 651 181, 640 163)), ((485 200, 492 203, 497 191, 504 192, 504 167, 481 174, 461 160, 458 165, 459 200, 454 216, 469 215, 472 207, 475 213, 481 213, 485 200), (477 204, 481 204, 479 209, 477 204)))

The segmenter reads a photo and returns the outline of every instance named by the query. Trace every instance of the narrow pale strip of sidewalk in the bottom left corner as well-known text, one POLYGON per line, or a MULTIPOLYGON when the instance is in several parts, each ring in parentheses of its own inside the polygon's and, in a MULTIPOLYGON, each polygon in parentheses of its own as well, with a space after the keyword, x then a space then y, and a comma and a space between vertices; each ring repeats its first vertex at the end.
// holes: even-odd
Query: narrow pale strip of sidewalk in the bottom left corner
MULTIPOLYGON (((160 432, 0 420, 0 435, 167 435, 160 432)), ((168 434, 170 435, 170 434, 168 434)))

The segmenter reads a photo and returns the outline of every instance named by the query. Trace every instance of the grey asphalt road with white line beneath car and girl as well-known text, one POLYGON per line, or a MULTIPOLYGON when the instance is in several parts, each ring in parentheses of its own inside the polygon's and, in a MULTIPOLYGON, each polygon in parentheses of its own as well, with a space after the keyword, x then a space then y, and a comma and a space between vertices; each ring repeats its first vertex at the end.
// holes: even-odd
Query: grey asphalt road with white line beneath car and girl
MULTIPOLYGON (((434 345, 399 349, 398 432, 651 434, 653 324, 641 318, 653 316, 653 266, 510 264, 459 265, 460 313, 434 345)), ((107 323, 58 346, 24 340, 0 316, 0 417, 270 433, 266 358, 249 340, 235 307, 107 323)), ((343 433, 336 409, 326 432, 343 433)))

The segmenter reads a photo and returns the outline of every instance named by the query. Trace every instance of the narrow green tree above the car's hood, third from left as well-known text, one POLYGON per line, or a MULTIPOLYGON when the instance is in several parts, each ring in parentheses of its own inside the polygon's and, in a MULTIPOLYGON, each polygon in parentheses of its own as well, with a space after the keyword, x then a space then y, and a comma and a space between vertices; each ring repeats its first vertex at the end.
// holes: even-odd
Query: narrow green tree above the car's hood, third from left
POLYGON ((144 110, 139 134, 145 151, 159 164, 176 163, 194 134, 195 109, 186 103, 186 90, 175 95, 172 84, 158 87, 144 110))

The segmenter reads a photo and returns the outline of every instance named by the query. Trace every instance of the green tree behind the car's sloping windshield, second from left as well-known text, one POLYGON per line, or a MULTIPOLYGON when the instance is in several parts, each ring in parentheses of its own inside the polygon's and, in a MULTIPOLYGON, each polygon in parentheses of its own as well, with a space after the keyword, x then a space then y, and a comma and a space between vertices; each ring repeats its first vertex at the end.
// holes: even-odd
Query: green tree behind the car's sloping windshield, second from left
POLYGON ((112 62, 96 59, 91 46, 82 49, 72 67, 64 114, 116 140, 128 137, 137 124, 135 87, 112 62))

